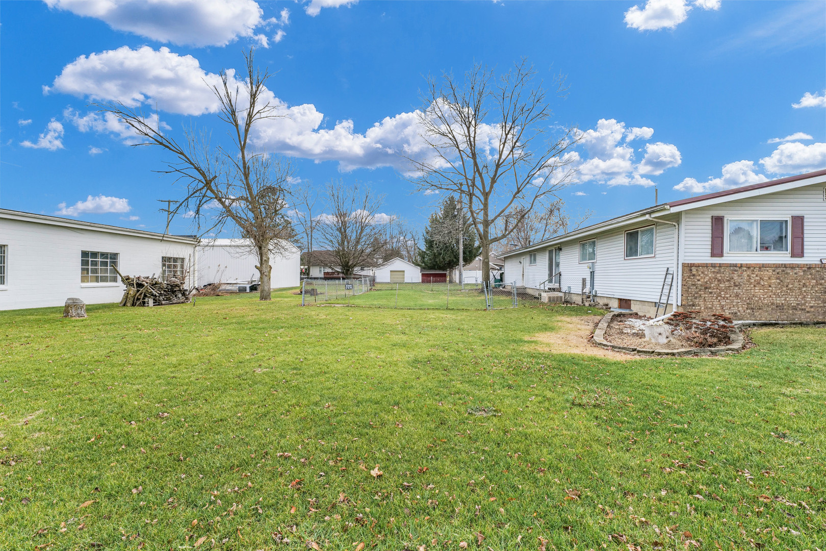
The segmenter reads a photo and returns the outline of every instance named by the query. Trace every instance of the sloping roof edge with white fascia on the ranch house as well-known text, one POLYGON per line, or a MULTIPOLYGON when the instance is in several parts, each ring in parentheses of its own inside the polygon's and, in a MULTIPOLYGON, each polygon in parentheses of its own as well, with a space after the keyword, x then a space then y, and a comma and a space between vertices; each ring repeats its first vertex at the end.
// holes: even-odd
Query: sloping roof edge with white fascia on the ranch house
POLYGON ((579 237, 585 237, 586 235, 594 234, 601 230, 607 230, 615 226, 624 226, 626 224, 637 222, 640 219, 645 219, 648 216, 653 215, 654 213, 658 213, 660 216, 662 216, 668 214, 669 212, 674 213, 693 208, 705 207, 706 205, 713 204, 715 202, 735 201, 740 198, 750 197, 751 195, 779 192, 790 187, 796 188, 808 186, 814 182, 808 182, 807 180, 810 180, 811 178, 819 178, 824 176, 826 176, 826 170, 818 170, 815 172, 790 176, 788 178, 778 178, 776 180, 770 180, 768 182, 755 183, 748 186, 741 186, 740 188, 726 189, 722 192, 705 193, 704 195, 698 195, 697 197, 689 197, 687 199, 680 199, 679 201, 662 203, 661 205, 643 208, 639 211, 630 212, 629 214, 624 214, 622 216, 615 216, 610 220, 597 222, 596 224, 592 224, 591 226, 586 226, 578 230, 570 231, 567 234, 557 235, 556 237, 552 237, 548 240, 540 241, 539 243, 534 243, 534 245, 528 245, 526 247, 520 247, 519 249, 510 250, 502 254, 502 256, 509 257, 515 254, 525 254, 531 249, 542 249, 549 245, 555 245, 558 243, 562 243, 563 241, 573 240, 579 237))

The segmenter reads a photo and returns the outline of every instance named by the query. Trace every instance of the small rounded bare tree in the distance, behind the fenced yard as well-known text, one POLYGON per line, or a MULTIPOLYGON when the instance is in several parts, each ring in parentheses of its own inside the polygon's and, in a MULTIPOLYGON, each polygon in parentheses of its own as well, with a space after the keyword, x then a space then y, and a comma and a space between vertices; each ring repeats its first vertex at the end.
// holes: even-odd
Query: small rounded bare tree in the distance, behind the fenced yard
POLYGON ((329 213, 320 215, 318 234, 335 268, 344 276, 352 276, 358 268, 375 263, 376 254, 386 240, 386 220, 378 215, 382 197, 358 184, 341 181, 327 185, 329 213))

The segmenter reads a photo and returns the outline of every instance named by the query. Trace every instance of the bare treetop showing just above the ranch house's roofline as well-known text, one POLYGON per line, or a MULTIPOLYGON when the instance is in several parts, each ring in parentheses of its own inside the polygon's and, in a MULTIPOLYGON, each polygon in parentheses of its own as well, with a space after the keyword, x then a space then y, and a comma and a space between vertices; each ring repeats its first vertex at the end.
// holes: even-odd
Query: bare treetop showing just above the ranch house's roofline
POLYGON ((510 233, 508 245, 512 244, 516 248, 522 248, 577 230, 590 217, 591 211, 586 211, 581 216, 572 219, 565 210, 565 202, 557 199, 544 207, 534 205, 534 208, 529 211, 520 205, 503 218, 517 221, 512 224, 513 230, 510 233))

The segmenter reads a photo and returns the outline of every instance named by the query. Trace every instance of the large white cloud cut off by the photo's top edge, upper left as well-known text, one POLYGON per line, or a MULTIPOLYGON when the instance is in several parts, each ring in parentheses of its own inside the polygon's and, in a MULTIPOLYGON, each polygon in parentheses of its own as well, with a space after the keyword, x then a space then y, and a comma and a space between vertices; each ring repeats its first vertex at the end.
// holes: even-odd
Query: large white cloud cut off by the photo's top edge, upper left
POLYGON ((263 11, 253 0, 45 0, 49 7, 94 17, 127 31, 177 45, 225 46, 253 37, 263 11))

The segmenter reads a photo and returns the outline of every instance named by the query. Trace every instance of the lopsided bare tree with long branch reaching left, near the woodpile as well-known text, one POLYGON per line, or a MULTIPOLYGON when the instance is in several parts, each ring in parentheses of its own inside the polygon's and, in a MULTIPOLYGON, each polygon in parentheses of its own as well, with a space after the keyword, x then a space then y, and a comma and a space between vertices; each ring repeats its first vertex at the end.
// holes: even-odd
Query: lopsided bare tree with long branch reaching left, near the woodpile
POLYGON ((211 146, 208 133, 185 132, 183 143, 161 133, 159 127, 137 109, 121 102, 98 104, 131 126, 143 138, 136 145, 158 145, 173 154, 175 160, 168 169, 187 186, 187 195, 173 209, 191 212, 202 235, 221 230, 226 224, 235 226, 240 236, 249 239, 258 256, 260 299, 270 300, 270 256, 287 249, 285 240, 293 236, 292 224, 286 214, 286 189, 293 170, 289 162, 254 153, 249 144, 254 127, 261 121, 276 117, 275 106, 267 101, 266 69, 254 67, 253 52, 244 54, 246 74, 238 83, 221 71, 221 87, 213 86, 221 108, 221 121, 230 126, 231 147, 211 146))

